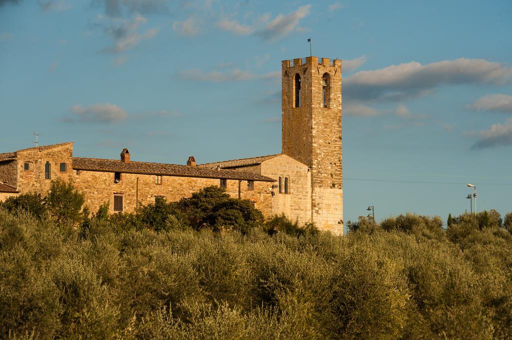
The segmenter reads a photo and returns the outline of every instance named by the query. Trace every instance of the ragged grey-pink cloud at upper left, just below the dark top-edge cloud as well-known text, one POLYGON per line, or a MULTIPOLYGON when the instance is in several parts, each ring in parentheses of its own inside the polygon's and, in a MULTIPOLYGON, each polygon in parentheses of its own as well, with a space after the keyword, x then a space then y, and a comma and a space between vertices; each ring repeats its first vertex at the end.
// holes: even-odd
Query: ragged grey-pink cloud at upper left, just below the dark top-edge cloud
POLYGON ((145 17, 137 14, 132 20, 109 18, 98 15, 95 25, 114 40, 114 45, 102 50, 104 53, 121 53, 137 46, 141 41, 151 39, 159 32, 158 28, 138 33, 139 26, 146 24, 145 17))

